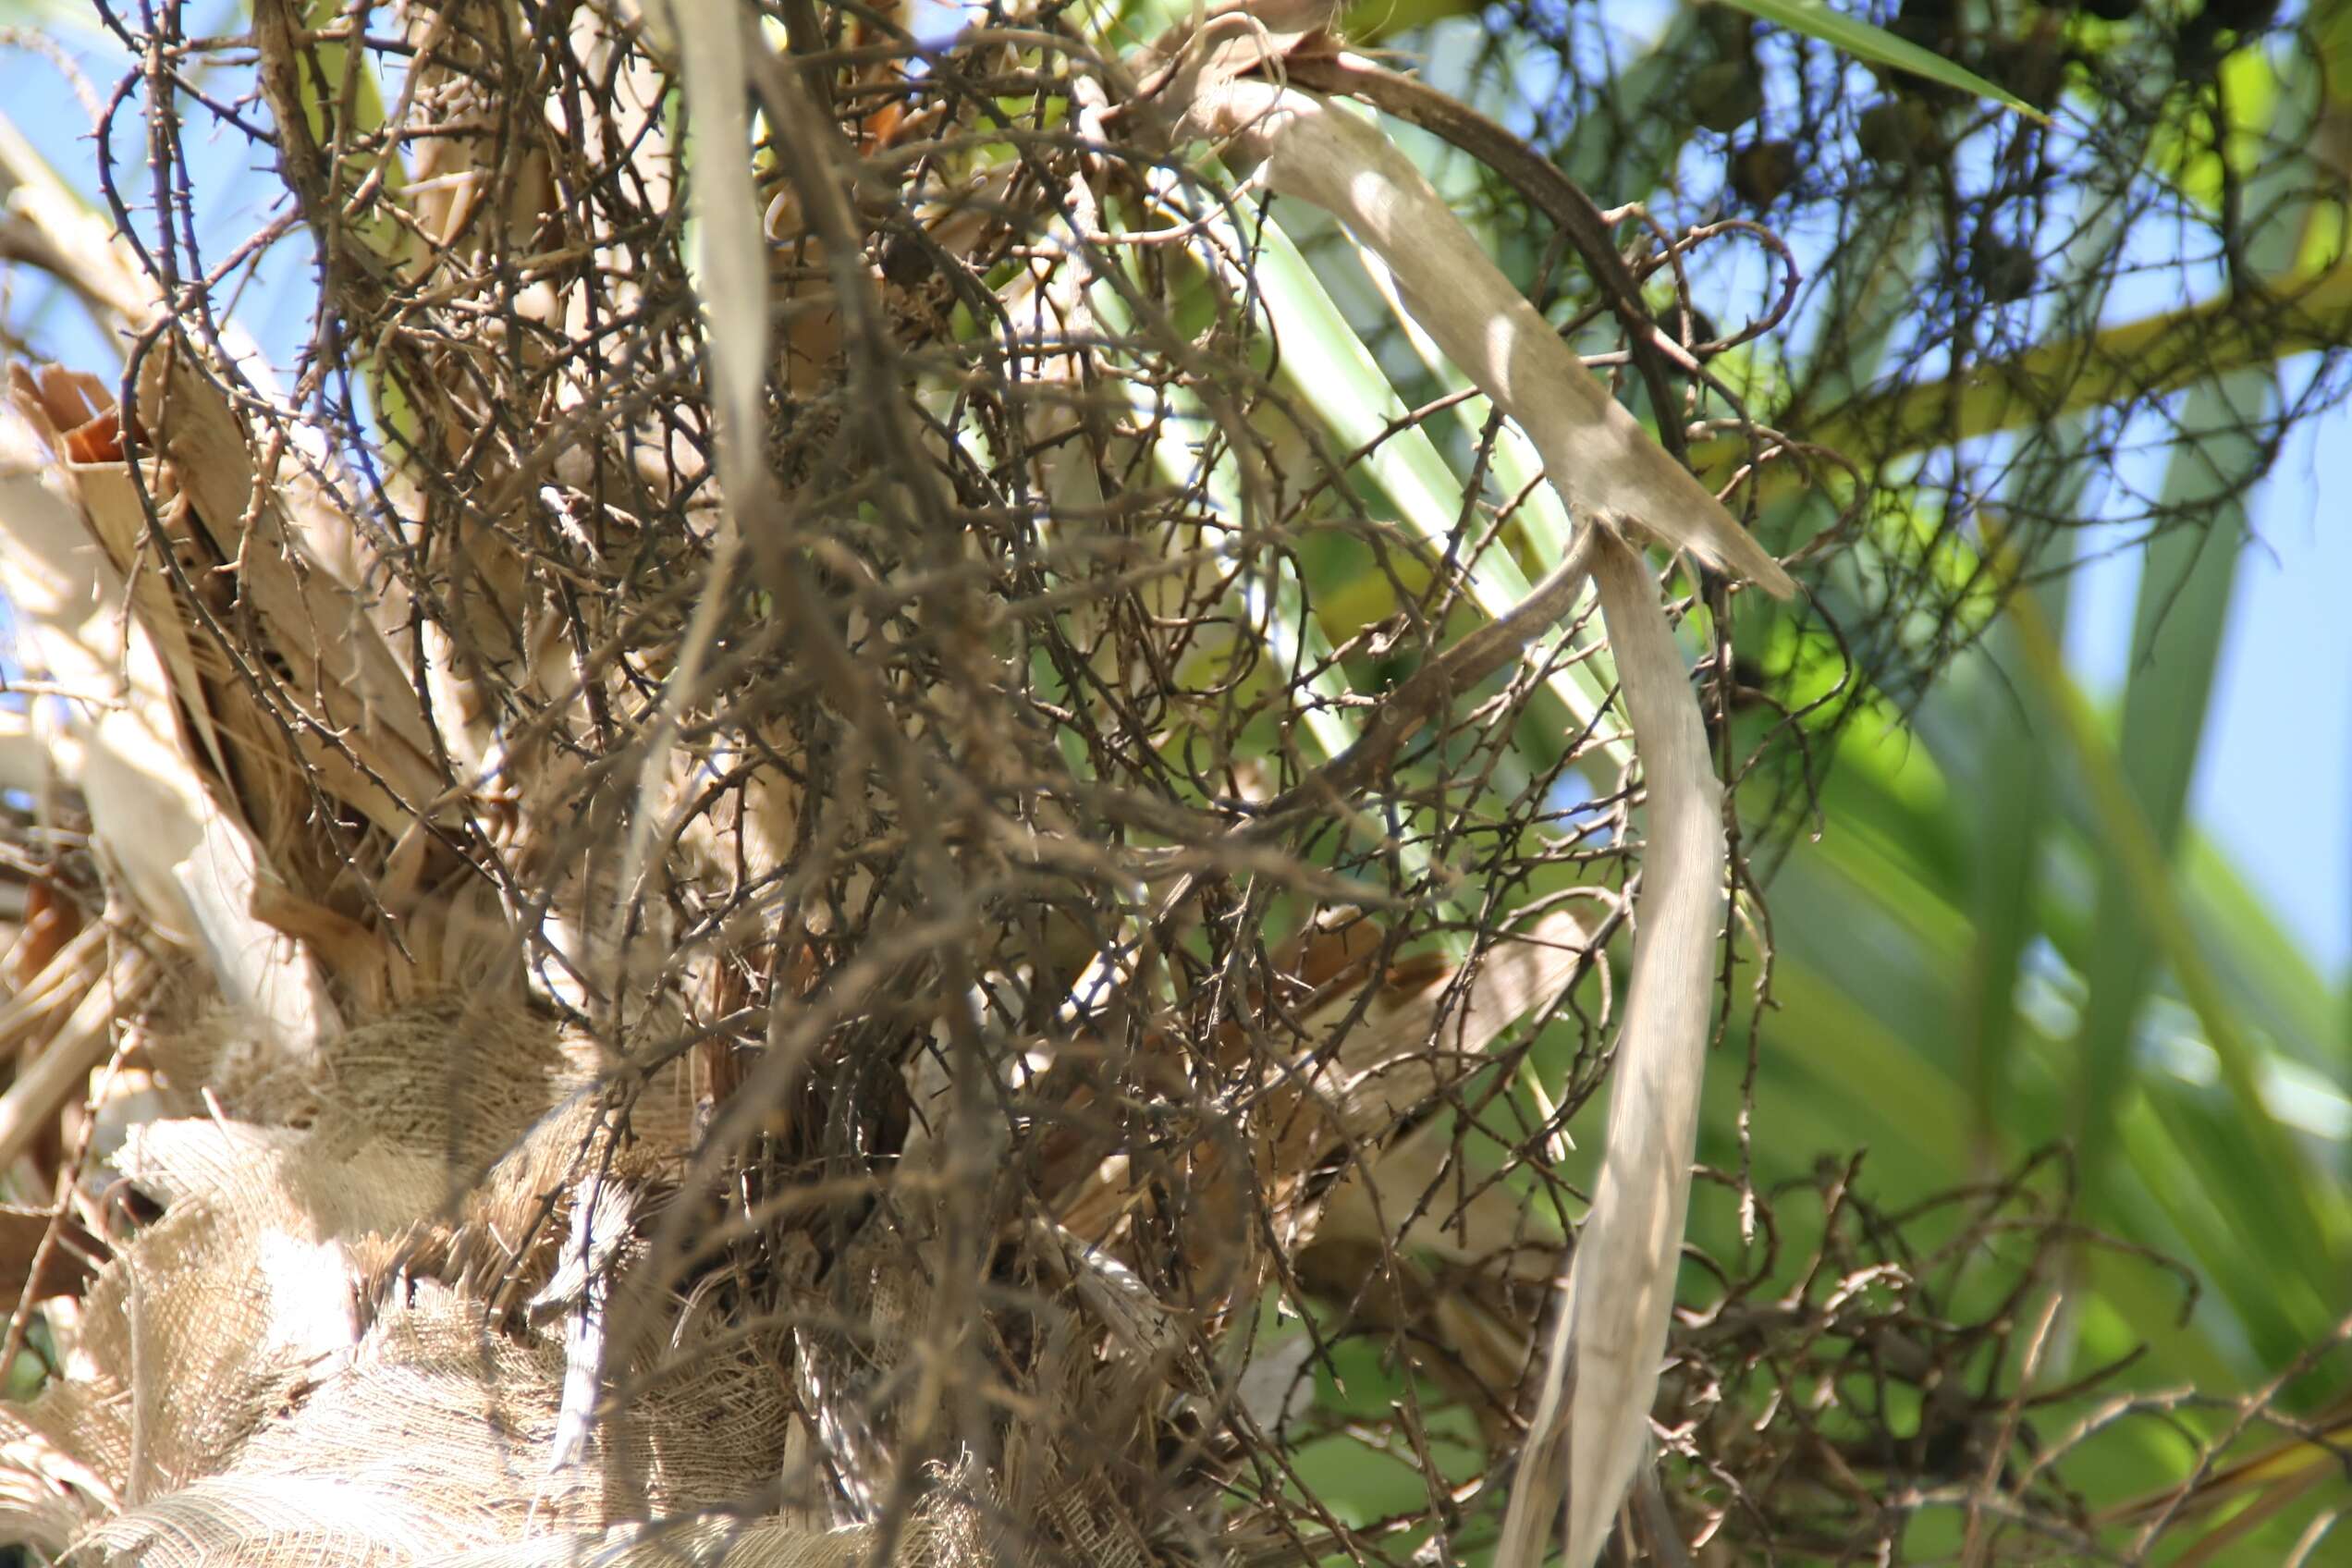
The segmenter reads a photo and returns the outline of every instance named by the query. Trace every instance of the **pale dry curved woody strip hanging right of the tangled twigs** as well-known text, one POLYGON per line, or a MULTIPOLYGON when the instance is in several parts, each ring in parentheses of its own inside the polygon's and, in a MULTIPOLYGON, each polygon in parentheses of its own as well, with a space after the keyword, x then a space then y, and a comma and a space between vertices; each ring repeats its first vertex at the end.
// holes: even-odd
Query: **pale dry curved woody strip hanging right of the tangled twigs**
POLYGON ((1526 430, 1590 541, 1649 783, 1649 851, 1609 1152, 1496 1554, 1501 1568, 1534 1568, 1566 1497, 1566 1563, 1588 1568, 1649 1446, 1698 1133, 1708 957, 1722 929, 1729 860, 1722 788, 1689 670, 1658 585, 1623 534, 1639 529, 1778 595, 1795 592, 1795 583, 1609 397, 1378 129, 1265 80, 1204 92, 1181 125, 1225 139, 1258 165, 1256 179, 1270 190, 1324 207, 1388 263, 1406 308, 1446 357, 1526 430))

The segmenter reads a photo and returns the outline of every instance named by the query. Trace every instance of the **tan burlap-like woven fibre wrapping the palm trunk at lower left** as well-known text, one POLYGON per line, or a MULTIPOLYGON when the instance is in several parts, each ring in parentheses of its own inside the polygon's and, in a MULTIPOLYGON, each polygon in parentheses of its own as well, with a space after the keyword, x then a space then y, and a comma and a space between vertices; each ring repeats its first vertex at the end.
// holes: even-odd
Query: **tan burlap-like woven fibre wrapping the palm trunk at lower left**
MULTIPOLYGON (((148 1124, 118 1154, 165 1218, 92 1286, 66 1335, 68 1378, 0 1410, 0 1533, 68 1561, 158 1568, 818 1568, 873 1552, 870 1523, 731 1512, 774 1495, 807 1420, 783 1375, 783 1326, 682 1314, 684 1340, 656 1347, 659 1368, 607 1368, 630 1396, 600 1415, 574 1465, 550 1469, 562 1328, 492 1324, 485 1274, 456 1267, 454 1241, 470 1229, 475 1253, 513 1246, 539 1194, 576 1180, 595 1135, 588 1067, 541 1020, 440 1001, 310 1060, 219 1032, 162 1056, 207 1084, 221 1114, 148 1124), (428 1255, 447 1276, 386 1272, 428 1255)), ((619 1168, 675 1166, 684 1124, 668 1135, 619 1168)), ((1049 1382, 1101 1394, 1080 1387, 1105 1375, 1098 1328, 1061 1338, 1049 1382)), ((1145 1559, 1112 1493, 1065 1472, 1051 1443, 1009 1469, 1016 1497, 969 1465, 934 1474, 894 1559, 1145 1559)))

